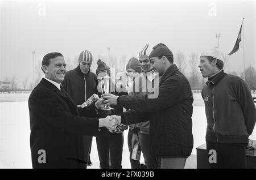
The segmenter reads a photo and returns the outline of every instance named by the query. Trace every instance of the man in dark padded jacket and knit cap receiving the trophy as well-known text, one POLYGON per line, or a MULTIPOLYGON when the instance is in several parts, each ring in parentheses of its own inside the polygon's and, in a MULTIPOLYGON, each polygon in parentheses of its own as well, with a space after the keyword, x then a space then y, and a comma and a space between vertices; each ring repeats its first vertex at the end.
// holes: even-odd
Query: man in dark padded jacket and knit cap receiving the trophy
POLYGON ((164 44, 154 46, 149 55, 153 67, 162 76, 158 96, 104 95, 106 105, 118 104, 126 109, 121 117, 113 116, 125 125, 150 120, 150 142, 159 168, 184 168, 193 148, 193 97, 187 78, 173 64, 174 57, 164 44))

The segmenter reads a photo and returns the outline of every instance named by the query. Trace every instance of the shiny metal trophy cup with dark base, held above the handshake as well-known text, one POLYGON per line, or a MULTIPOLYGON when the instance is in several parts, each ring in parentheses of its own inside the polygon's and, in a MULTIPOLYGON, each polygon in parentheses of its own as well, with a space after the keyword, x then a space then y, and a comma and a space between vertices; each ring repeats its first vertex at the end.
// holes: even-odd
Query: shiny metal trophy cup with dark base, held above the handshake
MULTIPOLYGON (((109 93, 109 87, 110 87, 110 77, 105 75, 104 77, 101 78, 101 90, 102 93, 103 91, 105 93, 109 93), (103 85, 103 89, 102 89, 103 85)), ((105 108, 102 108, 98 112, 100 118, 106 118, 108 115, 114 115, 115 110, 114 108, 110 108, 109 106, 105 106, 105 108)))

